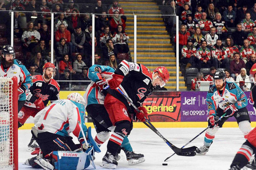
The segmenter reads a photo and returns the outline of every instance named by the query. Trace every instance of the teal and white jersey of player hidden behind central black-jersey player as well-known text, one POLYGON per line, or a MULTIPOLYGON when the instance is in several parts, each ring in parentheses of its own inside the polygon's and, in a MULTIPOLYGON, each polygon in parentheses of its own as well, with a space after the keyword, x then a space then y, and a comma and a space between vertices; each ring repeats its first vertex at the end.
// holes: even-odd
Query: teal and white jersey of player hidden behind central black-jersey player
POLYGON ((105 96, 99 92, 99 88, 95 82, 105 78, 106 80, 112 79, 112 74, 115 70, 110 66, 93 65, 88 69, 87 77, 92 81, 88 85, 86 92, 83 96, 85 99, 85 107, 90 104, 104 104, 105 96))

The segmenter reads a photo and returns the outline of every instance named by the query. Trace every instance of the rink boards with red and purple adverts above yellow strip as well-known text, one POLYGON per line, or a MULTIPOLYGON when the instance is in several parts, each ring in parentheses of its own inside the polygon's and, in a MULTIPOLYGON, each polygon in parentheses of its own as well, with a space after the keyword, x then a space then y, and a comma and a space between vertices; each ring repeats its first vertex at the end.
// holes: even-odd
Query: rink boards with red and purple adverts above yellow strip
MULTIPOLYGON (((64 99, 71 91, 61 91, 60 98, 64 99)), ((81 95, 85 91, 79 92, 81 95)), ((252 121, 252 127, 256 126, 256 113, 250 100, 250 92, 245 92, 248 99, 248 113, 252 121)), ((207 91, 154 91, 143 103, 149 118, 158 128, 202 128, 207 126, 208 115, 205 103, 207 91)), ((20 129, 30 129, 33 126, 33 118, 29 118, 20 129)), ((87 126, 92 126, 88 122, 87 126)), ((238 127, 235 118, 229 118, 223 127, 238 127)), ((135 122, 134 128, 146 128, 141 122, 135 122)))

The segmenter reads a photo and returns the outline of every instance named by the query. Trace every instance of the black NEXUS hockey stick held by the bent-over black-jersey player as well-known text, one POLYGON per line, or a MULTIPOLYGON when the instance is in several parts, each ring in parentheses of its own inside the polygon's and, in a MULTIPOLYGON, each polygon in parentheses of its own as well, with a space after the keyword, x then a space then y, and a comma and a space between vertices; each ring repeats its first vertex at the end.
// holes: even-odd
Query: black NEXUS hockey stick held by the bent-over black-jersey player
MULTIPOLYGON (((140 110, 133 104, 133 102, 122 92, 122 90, 120 90, 120 88, 116 88, 125 98, 126 100, 134 107, 134 109, 137 112, 140 112, 140 110)), ((160 138, 162 138, 169 147, 171 147, 171 149, 180 156, 195 156, 195 149, 197 147, 192 146, 189 148, 185 148, 185 149, 181 149, 176 147, 175 145, 173 145, 171 142, 169 142, 166 138, 163 137, 163 135, 161 135, 161 133, 151 124, 151 122, 145 118, 145 122, 143 122, 147 127, 149 127, 153 132, 155 132, 160 138)))

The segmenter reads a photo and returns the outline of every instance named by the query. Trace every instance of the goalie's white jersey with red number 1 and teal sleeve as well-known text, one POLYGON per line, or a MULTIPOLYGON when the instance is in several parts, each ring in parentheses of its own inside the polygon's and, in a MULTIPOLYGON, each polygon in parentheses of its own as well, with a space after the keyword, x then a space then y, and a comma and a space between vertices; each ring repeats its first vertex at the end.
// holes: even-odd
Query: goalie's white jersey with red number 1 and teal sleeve
POLYGON ((87 128, 84 123, 84 105, 69 99, 56 100, 37 113, 34 119, 35 128, 39 133, 50 132, 67 137, 71 132, 83 138, 79 123, 84 134, 87 128))

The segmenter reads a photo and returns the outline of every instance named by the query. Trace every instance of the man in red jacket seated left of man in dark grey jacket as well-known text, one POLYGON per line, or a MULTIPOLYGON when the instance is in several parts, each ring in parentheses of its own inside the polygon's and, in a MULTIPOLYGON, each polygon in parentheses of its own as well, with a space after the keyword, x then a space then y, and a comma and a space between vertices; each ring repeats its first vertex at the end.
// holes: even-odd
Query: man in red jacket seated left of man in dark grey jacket
POLYGON ((56 34, 55 34, 55 40, 56 40, 57 47, 60 45, 61 38, 65 38, 65 41, 69 47, 69 55, 71 55, 72 48, 73 48, 73 44, 72 44, 72 42, 70 42, 71 34, 70 34, 70 31, 65 28, 64 24, 60 24, 60 28, 56 31, 56 34))

